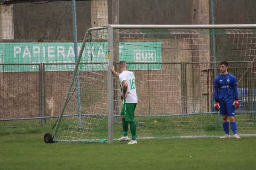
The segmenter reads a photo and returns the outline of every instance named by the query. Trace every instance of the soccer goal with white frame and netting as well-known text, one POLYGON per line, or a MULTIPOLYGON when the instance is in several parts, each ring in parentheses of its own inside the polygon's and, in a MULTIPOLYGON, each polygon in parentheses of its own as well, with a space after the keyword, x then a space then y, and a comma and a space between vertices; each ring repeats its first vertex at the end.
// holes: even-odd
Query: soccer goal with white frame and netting
POLYGON ((109 142, 122 136, 121 60, 136 78, 137 138, 223 135, 213 107, 218 63, 236 76, 240 136, 256 134, 256 25, 108 25, 87 30, 53 140, 109 142))

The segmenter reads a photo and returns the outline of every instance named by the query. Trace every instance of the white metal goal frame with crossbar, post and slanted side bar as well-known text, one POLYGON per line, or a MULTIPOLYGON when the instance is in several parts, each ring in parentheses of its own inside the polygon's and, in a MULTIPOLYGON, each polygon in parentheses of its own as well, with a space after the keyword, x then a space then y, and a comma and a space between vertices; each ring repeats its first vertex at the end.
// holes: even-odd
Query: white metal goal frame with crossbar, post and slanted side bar
POLYGON ((95 30, 108 29, 108 143, 113 143, 113 74, 110 67, 113 67, 113 31, 116 29, 256 29, 256 24, 239 24, 239 25, 108 25, 104 27, 90 28, 87 30, 84 36, 84 41, 82 42, 81 50, 79 51, 79 57, 77 59, 77 64, 73 73, 73 77, 70 82, 70 86, 67 91, 67 96, 65 98, 64 106, 61 110, 55 132, 53 134, 53 140, 58 132, 58 128, 61 123, 61 118, 63 116, 65 107, 68 103, 69 94, 71 87, 73 85, 74 79, 76 77, 76 72, 81 60, 81 56, 84 51, 84 46, 86 43, 87 34, 95 30))

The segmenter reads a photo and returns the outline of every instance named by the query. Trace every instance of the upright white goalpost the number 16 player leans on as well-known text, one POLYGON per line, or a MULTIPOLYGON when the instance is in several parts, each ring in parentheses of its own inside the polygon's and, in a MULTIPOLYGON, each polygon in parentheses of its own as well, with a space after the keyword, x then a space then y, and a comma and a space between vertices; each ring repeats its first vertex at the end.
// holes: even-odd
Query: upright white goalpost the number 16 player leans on
POLYGON ((113 143, 113 28, 108 25, 108 143, 113 143))

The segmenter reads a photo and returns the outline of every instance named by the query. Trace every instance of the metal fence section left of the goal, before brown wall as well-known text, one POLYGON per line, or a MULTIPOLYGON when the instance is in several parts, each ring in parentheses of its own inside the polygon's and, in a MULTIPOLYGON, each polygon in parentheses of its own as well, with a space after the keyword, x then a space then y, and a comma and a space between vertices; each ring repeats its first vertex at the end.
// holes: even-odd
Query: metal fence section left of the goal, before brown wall
POLYGON ((0 127, 54 125, 72 75, 72 71, 46 71, 55 66, 0 64, 0 127))

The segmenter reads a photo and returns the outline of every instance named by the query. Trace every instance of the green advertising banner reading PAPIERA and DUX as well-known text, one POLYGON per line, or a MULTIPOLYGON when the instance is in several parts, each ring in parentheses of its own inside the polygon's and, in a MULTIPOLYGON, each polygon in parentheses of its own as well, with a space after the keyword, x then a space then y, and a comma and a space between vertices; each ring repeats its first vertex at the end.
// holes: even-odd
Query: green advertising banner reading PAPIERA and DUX
MULTIPOLYGON (((98 71, 106 70, 108 54, 107 42, 86 42, 81 57, 80 70, 98 71), (99 62, 95 64, 95 62, 99 62)), ((81 42, 78 43, 78 51, 81 42)), ((161 42, 120 42, 119 59, 126 62, 138 62, 129 64, 130 70, 161 69, 161 42), (141 64, 141 62, 152 62, 152 64, 141 64)), ((0 63, 67 63, 65 65, 49 65, 47 71, 73 71, 75 65, 73 42, 2 42, 0 45, 0 63)), ((29 65, 22 70, 15 66, 5 66, 4 71, 38 71, 37 65, 29 65)))

